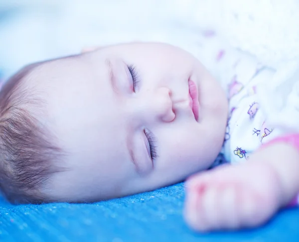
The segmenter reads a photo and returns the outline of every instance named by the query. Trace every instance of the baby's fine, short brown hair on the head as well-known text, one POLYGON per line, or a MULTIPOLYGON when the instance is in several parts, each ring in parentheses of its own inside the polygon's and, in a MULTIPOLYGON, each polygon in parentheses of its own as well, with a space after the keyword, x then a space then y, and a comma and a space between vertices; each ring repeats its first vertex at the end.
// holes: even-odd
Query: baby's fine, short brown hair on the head
POLYGON ((0 91, 0 191, 12 203, 45 201, 42 188, 59 171, 61 149, 37 118, 43 102, 24 81, 38 65, 20 70, 0 91))

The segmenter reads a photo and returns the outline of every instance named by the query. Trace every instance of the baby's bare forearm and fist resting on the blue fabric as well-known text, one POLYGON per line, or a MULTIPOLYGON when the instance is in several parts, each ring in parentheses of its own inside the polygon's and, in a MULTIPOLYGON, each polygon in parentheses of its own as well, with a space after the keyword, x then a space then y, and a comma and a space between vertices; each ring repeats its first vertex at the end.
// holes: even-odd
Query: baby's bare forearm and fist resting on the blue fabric
POLYGON ((245 163, 196 174, 186 183, 186 222, 197 231, 261 225, 298 194, 298 173, 299 148, 278 139, 245 163))

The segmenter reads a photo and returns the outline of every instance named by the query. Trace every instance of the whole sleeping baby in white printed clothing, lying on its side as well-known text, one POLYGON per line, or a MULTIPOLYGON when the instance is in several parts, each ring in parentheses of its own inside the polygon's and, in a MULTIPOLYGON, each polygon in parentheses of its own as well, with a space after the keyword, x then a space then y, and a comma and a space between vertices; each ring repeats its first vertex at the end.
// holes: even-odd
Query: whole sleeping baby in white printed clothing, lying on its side
POLYGON ((192 175, 184 216, 197 231, 255 227, 296 205, 294 68, 281 82, 212 30, 200 41, 192 54, 126 43, 17 72, 0 91, 4 196, 94 202, 192 175))

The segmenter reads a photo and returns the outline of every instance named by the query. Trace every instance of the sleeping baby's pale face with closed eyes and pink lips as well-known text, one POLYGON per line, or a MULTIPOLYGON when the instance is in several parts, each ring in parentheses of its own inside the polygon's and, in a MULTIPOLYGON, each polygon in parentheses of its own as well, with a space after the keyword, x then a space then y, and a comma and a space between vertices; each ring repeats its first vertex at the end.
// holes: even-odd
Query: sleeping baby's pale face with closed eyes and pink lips
POLYGON ((175 183, 208 168, 221 149, 225 94, 181 49, 108 46, 40 70, 44 81, 34 87, 65 150, 65 171, 44 190, 54 200, 96 201, 175 183))

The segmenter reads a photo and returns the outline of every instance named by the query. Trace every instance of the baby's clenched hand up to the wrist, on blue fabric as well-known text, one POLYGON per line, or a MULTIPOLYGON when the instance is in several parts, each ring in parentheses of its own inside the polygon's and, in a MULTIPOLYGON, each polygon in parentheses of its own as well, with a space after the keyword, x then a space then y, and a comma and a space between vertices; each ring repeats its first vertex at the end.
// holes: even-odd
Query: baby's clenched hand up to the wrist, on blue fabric
POLYGON ((196 231, 261 225, 281 206, 282 185, 266 162, 224 165, 186 182, 185 220, 196 231))

